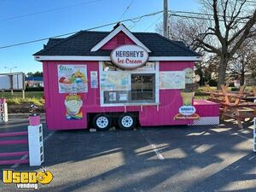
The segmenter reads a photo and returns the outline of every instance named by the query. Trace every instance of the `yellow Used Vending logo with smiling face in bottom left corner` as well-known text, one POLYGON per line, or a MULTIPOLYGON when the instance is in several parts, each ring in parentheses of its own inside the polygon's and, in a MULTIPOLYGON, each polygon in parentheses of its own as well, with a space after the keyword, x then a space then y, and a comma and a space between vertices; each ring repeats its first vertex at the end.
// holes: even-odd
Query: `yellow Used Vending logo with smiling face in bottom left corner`
POLYGON ((16 184, 17 189, 38 189, 39 183, 49 184, 54 175, 45 169, 40 172, 15 172, 3 170, 3 183, 16 184))

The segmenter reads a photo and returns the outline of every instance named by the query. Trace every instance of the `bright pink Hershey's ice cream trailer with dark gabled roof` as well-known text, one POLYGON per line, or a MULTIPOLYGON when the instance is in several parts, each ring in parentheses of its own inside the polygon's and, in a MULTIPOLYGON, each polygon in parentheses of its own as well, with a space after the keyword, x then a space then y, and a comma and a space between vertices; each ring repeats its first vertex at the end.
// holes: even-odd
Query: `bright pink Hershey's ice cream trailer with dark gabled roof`
POLYGON ((50 38, 34 57, 43 63, 49 130, 218 125, 218 104, 193 99, 201 55, 183 42, 118 24, 50 38))

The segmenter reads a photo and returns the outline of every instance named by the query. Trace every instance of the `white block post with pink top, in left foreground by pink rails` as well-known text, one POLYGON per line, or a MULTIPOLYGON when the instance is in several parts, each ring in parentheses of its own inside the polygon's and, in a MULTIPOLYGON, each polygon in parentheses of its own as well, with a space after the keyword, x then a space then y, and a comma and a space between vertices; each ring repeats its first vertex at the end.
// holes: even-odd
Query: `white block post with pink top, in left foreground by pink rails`
POLYGON ((28 125, 29 165, 41 166, 44 162, 43 125, 28 125))

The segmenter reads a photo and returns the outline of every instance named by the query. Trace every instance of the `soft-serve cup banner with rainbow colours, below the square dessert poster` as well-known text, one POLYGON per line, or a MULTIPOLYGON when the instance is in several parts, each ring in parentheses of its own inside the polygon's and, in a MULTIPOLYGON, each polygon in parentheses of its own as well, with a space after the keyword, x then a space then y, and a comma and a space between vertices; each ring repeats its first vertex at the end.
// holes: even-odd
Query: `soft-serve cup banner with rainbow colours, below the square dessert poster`
POLYGON ((81 96, 77 94, 70 94, 66 96, 64 104, 66 107, 66 119, 72 120, 83 118, 83 101, 81 96))

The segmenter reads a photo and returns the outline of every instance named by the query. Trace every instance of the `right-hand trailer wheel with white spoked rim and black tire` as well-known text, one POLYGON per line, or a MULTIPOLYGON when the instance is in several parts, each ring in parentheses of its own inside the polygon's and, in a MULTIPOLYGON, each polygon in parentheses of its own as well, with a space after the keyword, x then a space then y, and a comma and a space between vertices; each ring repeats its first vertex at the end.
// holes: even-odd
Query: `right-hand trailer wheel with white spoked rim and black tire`
POLYGON ((136 123, 136 117, 130 113, 123 113, 118 119, 119 128, 122 130, 132 130, 136 123))

